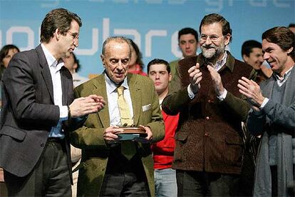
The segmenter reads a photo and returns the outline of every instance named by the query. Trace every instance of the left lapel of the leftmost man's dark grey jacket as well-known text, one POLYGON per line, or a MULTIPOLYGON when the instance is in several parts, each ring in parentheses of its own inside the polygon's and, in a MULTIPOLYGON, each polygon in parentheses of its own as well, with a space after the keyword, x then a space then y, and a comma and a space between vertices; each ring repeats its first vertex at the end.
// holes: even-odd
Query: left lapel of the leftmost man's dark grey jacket
POLYGON ((52 103, 54 103, 53 84, 52 84, 51 74, 50 74, 49 66, 47 64, 46 57, 44 55, 41 45, 37 46, 36 51, 37 51, 37 54, 40 59, 41 74, 43 76, 46 87, 47 87, 48 92, 50 94, 51 101, 52 101, 52 103))

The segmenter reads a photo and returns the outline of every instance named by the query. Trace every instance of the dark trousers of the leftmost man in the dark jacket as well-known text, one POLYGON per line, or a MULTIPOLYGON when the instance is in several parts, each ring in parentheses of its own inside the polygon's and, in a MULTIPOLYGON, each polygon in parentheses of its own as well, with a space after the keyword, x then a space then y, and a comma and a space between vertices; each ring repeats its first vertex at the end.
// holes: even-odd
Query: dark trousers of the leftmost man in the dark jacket
POLYGON ((48 140, 40 160, 29 175, 14 176, 4 171, 9 196, 71 197, 65 141, 48 140))

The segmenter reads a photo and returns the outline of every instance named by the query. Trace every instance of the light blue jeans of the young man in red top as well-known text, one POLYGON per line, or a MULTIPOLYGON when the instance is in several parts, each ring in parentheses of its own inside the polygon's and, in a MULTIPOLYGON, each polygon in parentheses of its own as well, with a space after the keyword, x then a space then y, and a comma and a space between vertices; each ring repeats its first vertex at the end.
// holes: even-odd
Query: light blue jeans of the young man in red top
POLYGON ((157 197, 177 196, 176 171, 172 168, 155 169, 155 193, 157 197))

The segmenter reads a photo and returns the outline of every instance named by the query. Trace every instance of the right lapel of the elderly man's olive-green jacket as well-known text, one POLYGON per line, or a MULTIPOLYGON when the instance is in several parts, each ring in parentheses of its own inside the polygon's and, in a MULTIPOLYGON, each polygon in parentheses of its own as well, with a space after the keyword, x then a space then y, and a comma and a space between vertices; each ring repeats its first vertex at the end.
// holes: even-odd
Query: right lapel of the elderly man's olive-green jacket
POLYGON ((138 80, 136 75, 128 74, 128 86, 130 89, 130 96, 133 105, 133 124, 135 126, 138 126, 138 121, 142 107, 142 90, 138 86, 138 80))

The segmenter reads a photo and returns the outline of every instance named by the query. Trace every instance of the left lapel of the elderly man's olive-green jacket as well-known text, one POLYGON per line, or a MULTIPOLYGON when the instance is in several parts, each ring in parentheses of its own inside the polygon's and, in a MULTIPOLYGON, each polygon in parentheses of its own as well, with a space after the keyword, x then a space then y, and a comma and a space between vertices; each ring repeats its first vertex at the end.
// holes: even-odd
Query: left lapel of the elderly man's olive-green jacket
POLYGON ((110 126, 110 115, 108 113, 108 96, 106 92, 105 86, 105 78, 103 74, 100 74, 97 78, 93 79, 93 90, 92 94, 103 96, 105 99, 105 106, 103 110, 98 112, 98 118, 100 122, 103 124, 103 127, 107 128, 110 126))

